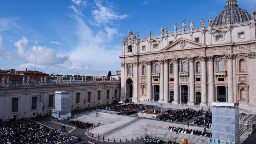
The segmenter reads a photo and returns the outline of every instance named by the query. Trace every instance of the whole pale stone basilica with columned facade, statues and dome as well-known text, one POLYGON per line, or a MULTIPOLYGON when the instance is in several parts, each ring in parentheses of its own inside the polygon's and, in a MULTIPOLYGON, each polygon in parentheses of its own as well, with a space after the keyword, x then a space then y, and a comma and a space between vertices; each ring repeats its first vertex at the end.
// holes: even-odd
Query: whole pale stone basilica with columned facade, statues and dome
POLYGON ((215 19, 177 20, 159 28, 159 35, 148 30, 143 39, 129 31, 119 57, 120 100, 239 102, 242 109, 256 110, 255 11, 236 0, 227 0, 215 19))

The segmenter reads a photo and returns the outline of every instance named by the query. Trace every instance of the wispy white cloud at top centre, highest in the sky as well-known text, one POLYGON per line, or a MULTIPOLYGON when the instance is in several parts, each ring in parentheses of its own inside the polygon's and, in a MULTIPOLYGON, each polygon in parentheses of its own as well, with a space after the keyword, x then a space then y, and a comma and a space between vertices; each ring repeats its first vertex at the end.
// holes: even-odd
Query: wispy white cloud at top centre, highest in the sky
POLYGON ((112 5, 104 6, 99 1, 96 3, 97 9, 92 11, 92 16, 96 22, 96 25, 110 23, 112 19, 124 19, 128 15, 118 15, 113 9, 112 5))

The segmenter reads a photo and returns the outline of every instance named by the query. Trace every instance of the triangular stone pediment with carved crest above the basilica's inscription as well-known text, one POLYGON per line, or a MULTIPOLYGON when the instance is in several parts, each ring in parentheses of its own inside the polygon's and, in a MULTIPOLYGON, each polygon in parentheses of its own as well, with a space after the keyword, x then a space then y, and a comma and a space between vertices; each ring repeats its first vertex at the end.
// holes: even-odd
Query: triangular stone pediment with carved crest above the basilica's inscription
POLYGON ((202 48, 205 46, 206 46, 205 44, 201 44, 195 41, 190 41, 185 38, 180 38, 174 43, 163 48, 162 51, 177 51, 177 50, 183 50, 183 49, 202 48))

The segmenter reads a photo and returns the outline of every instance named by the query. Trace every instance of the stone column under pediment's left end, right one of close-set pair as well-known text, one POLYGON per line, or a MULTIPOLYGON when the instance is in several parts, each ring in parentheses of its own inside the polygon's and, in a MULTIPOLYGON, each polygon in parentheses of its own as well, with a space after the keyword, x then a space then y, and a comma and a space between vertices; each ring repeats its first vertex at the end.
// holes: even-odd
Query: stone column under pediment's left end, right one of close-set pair
POLYGON ((168 84, 168 82, 169 82, 169 71, 168 71, 168 66, 169 66, 169 63, 168 63, 168 60, 167 59, 165 59, 164 60, 165 61, 165 65, 164 65, 164 67, 165 67, 165 71, 164 71, 164 75, 165 75, 165 80, 164 80, 164 82, 165 82, 165 86, 164 86, 164 89, 165 89, 165 91, 164 91, 164 100, 163 100, 163 102, 165 102, 165 103, 168 103, 169 102, 169 84, 168 84))

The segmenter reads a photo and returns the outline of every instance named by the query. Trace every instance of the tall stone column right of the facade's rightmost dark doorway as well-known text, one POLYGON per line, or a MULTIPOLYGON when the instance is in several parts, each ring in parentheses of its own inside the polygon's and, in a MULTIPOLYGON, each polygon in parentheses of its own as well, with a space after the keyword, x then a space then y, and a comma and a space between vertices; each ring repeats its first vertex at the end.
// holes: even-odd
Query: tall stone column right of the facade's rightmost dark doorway
POLYGON ((233 102, 233 54, 226 55, 227 56, 227 75, 228 75, 228 102, 233 102))

